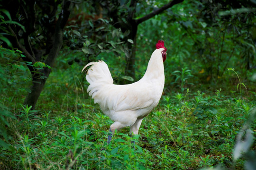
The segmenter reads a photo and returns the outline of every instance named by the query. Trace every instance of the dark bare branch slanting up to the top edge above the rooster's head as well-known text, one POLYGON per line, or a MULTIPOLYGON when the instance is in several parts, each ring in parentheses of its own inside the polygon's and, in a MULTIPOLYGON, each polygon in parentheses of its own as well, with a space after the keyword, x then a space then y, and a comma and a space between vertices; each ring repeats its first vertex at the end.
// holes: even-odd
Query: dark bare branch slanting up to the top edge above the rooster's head
POLYGON ((150 14, 148 14, 148 15, 146 15, 144 17, 138 18, 136 20, 137 25, 139 25, 140 23, 148 20, 149 18, 154 17, 157 14, 160 14, 165 9, 171 8, 172 6, 174 6, 174 5, 178 4, 178 3, 181 3, 181 2, 183 2, 183 0, 172 0, 172 1, 170 1, 169 3, 165 4, 163 7, 156 9, 155 11, 151 12, 150 14))

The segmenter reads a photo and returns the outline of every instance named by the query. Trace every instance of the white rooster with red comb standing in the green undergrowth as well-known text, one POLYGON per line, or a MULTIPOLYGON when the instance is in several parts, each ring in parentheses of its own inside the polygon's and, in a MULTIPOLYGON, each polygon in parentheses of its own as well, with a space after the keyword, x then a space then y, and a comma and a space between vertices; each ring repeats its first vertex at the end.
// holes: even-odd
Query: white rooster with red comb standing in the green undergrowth
POLYGON ((99 103, 101 110, 114 123, 110 126, 110 143, 112 133, 130 126, 130 133, 137 135, 142 120, 157 106, 165 85, 164 61, 166 51, 164 41, 159 40, 156 50, 148 62, 145 75, 137 82, 128 85, 114 85, 108 65, 99 60, 90 62, 82 71, 86 72, 89 82, 87 93, 99 103))

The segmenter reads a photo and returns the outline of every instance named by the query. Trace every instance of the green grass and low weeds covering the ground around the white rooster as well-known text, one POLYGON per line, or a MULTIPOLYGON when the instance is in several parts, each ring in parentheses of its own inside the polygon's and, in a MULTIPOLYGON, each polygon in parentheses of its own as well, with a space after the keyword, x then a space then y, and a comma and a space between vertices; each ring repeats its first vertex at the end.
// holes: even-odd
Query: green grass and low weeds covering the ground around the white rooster
MULTIPOLYGON (((232 152, 255 109, 256 93, 230 93, 225 87, 201 92, 197 86, 183 91, 185 83, 172 92, 165 89, 139 135, 130 137, 127 127, 107 145, 112 121, 86 93, 80 71, 78 65, 54 69, 37 110, 19 105, 25 96, 6 97, 17 119, 6 118, 11 138, 1 148, 0 169, 192 170, 219 164, 244 169, 244 157, 235 162, 232 152)), ((255 119, 250 128, 255 134, 255 119)), ((254 142, 250 149, 255 148, 254 142)))

